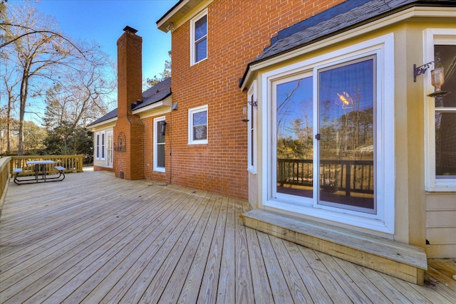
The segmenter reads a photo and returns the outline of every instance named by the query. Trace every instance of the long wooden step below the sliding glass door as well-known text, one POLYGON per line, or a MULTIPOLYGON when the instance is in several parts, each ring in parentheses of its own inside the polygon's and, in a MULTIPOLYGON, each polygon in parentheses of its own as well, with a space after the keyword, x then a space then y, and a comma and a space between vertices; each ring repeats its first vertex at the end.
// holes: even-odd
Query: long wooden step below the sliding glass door
POLYGON ((244 225, 252 229, 410 283, 424 283, 427 259, 423 248, 262 209, 242 217, 244 225))

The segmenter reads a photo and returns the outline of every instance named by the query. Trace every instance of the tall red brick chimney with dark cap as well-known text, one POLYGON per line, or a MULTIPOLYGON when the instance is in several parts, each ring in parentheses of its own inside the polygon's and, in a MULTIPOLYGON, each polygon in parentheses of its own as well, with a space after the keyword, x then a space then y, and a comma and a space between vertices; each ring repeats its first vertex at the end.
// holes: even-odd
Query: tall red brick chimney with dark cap
POLYGON ((118 119, 114 127, 115 177, 144 179, 144 124, 132 114, 132 105, 142 100, 142 38, 130 26, 117 41, 118 119))

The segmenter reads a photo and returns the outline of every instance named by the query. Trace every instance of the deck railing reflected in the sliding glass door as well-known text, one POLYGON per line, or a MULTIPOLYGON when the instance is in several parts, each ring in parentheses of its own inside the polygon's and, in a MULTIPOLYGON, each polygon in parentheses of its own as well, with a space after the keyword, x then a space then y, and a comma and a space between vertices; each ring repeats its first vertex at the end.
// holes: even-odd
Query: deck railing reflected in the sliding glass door
MULTIPOLYGON (((277 183, 312 187, 313 159, 277 159, 277 183)), ((373 194, 372 160, 320 161, 320 188, 330 192, 343 191, 373 194)))

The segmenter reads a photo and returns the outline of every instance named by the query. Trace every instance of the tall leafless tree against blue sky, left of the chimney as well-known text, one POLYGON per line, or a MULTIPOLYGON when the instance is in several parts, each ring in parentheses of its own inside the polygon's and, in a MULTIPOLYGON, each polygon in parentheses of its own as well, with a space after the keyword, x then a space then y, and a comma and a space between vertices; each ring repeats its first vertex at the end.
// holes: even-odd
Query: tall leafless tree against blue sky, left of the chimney
POLYGON ((98 46, 73 43, 54 28, 56 21, 39 14, 29 4, 6 7, 2 2, 0 10, 6 20, 0 23, 0 31, 3 30, 0 32, 1 54, 14 58, 20 78, 18 153, 21 155, 24 153, 24 115, 29 97, 42 98, 46 88, 58 84, 68 88, 71 91, 68 94, 80 98, 73 109, 73 125, 76 126, 90 107, 104 110, 100 96, 108 94, 112 88, 104 88, 104 83, 110 83, 103 80, 103 65, 108 62, 98 46))

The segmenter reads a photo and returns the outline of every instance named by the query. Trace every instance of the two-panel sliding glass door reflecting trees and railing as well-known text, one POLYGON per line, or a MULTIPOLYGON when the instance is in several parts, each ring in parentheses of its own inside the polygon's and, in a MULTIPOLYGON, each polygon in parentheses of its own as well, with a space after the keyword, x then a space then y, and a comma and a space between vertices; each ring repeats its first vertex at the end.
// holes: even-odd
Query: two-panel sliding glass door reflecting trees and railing
POLYGON ((375 214, 375 56, 274 81, 274 197, 375 214))

